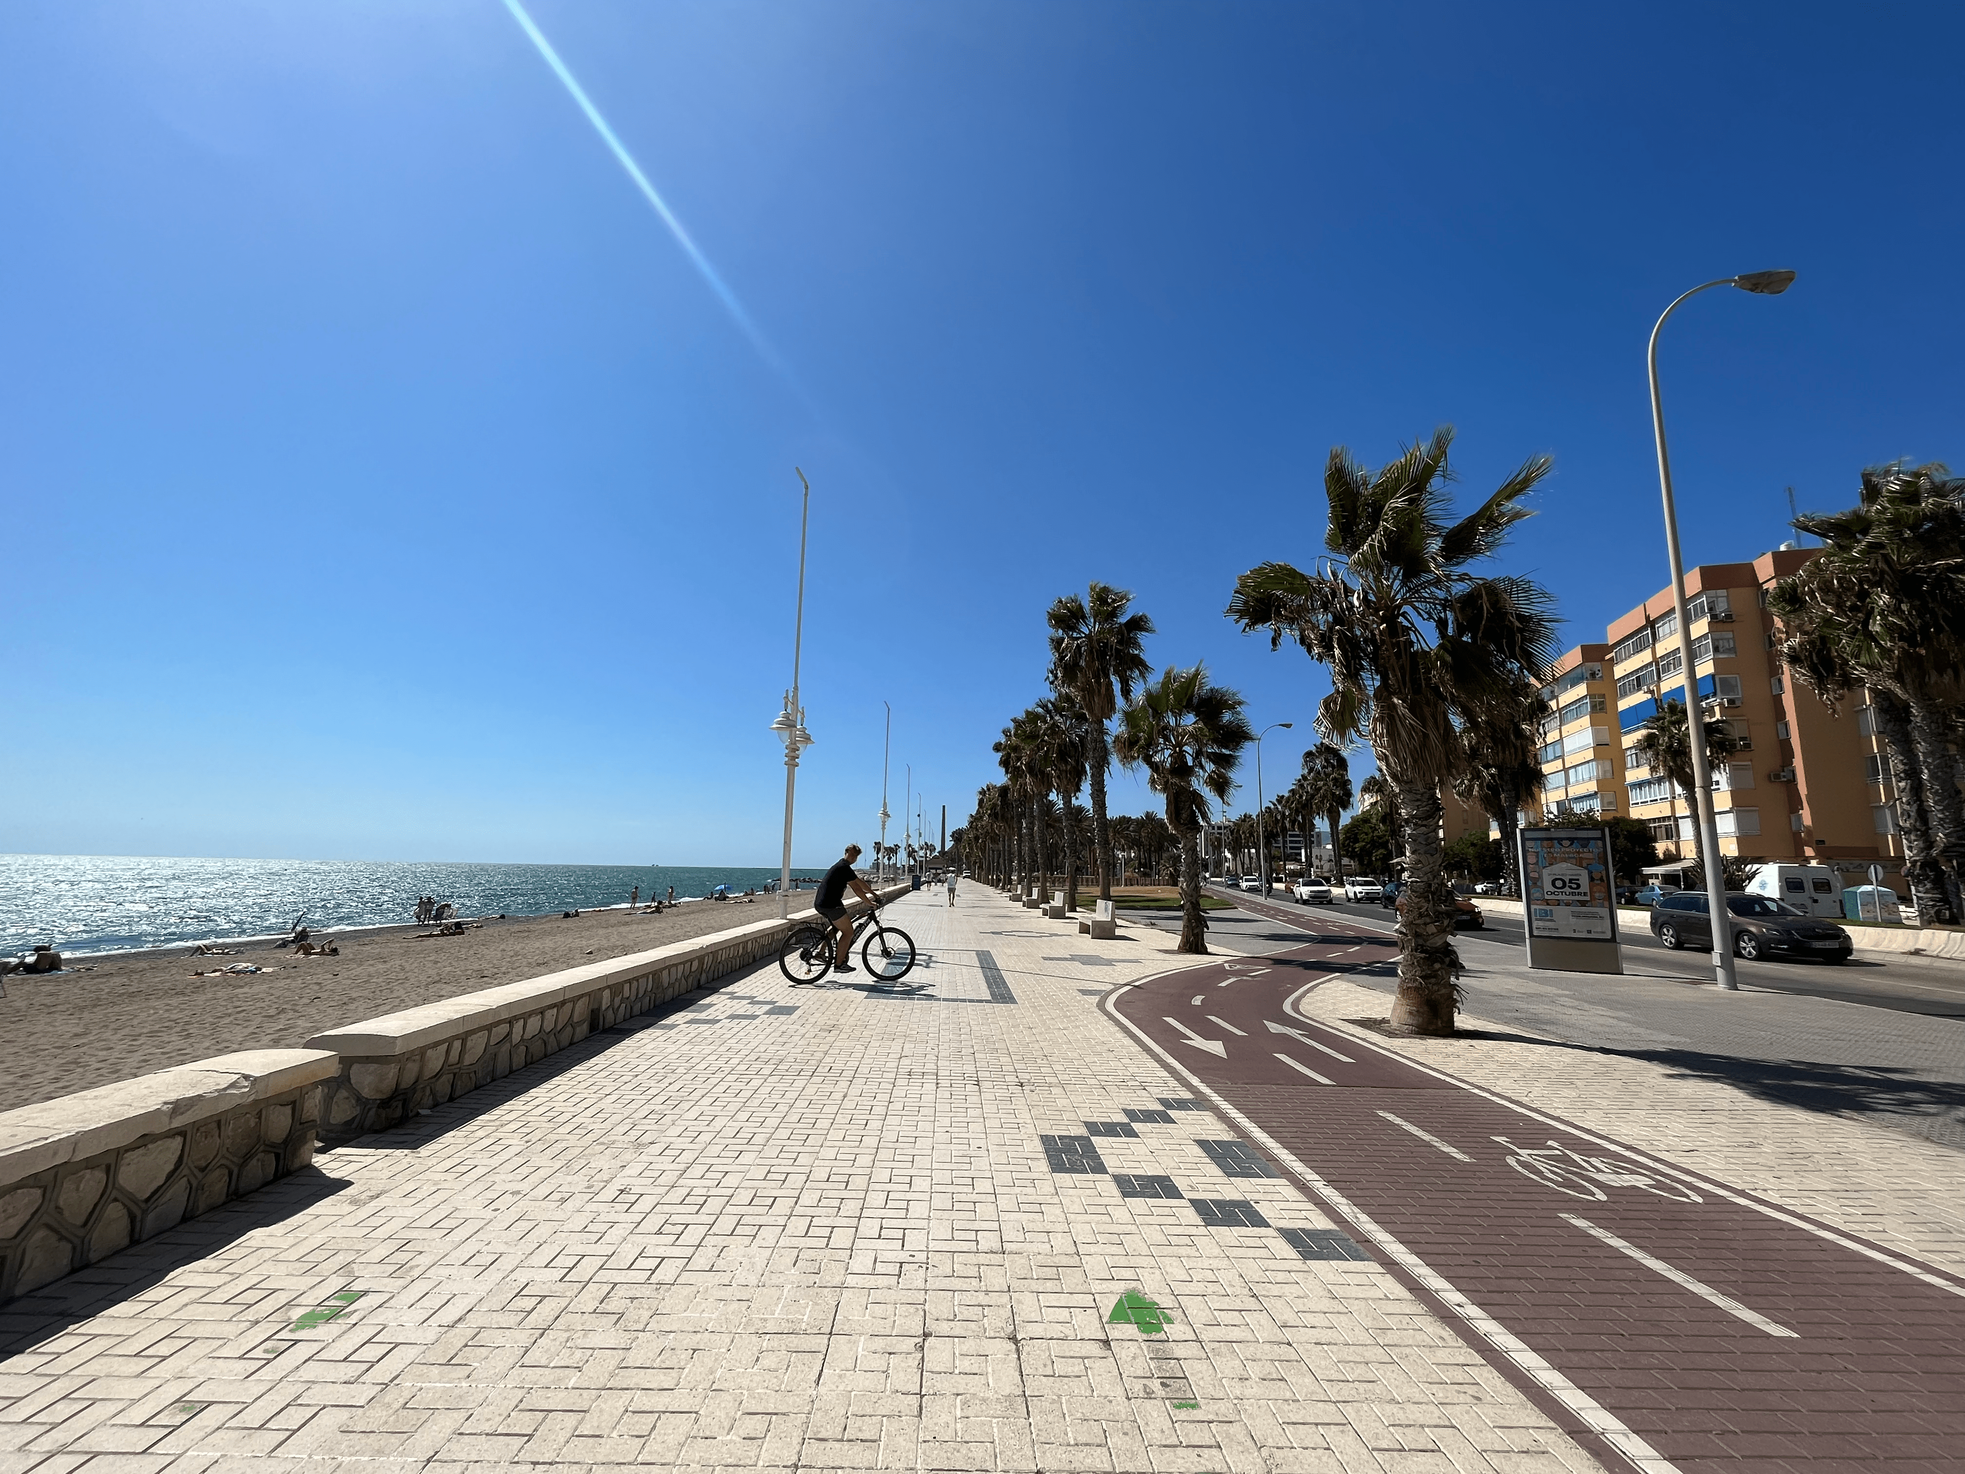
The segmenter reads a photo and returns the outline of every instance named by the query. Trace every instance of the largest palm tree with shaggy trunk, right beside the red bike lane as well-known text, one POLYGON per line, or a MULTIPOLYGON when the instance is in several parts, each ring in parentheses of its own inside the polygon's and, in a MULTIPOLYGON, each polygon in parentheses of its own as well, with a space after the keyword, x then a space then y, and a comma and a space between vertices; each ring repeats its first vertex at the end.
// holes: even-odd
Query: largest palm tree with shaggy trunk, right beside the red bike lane
POLYGON ((1548 474, 1537 456, 1468 517, 1448 523, 1452 428, 1376 476, 1342 446, 1324 468, 1330 556, 1315 572, 1267 562, 1236 580, 1228 617, 1295 639, 1330 668, 1317 711, 1326 741, 1366 737, 1405 837, 1399 992, 1391 1024, 1450 1034, 1460 998, 1452 888, 1440 875, 1440 784, 1466 763, 1458 727, 1554 654, 1548 595, 1527 578, 1482 578, 1548 474))

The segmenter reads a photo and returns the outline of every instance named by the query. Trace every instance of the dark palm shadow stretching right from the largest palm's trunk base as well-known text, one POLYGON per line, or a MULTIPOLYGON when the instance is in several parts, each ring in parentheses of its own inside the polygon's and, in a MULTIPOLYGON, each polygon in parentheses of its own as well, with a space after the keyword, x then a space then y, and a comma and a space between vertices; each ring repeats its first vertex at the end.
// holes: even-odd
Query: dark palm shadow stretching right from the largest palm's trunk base
MULTIPOLYGON (((1566 1040, 1537 1040, 1501 1030, 1454 1030, 1454 1038, 1533 1044, 1544 1049, 1643 1059, 1674 1081, 1727 1085, 1755 1101, 1845 1118, 1949 1120, 1965 1126, 1965 1085, 1922 1079, 1892 1065, 1831 1065, 1820 1059, 1749 1059, 1704 1049, 1603 1049, 1566 1040)), ((1882 1124, 1882 1122, 1879 1122, 1882 1124)), ((1949 1132, 1947 1132, 1949 1136, 1949 1132)))

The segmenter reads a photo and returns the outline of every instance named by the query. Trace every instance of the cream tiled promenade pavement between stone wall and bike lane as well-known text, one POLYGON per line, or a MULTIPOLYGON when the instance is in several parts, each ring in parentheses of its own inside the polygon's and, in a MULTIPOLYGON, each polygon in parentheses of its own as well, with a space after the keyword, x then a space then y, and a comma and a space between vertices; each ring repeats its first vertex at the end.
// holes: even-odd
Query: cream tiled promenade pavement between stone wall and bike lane
POLYGON ((892 920, 12 1303, 0 1472, 1592 1466, 1100 1014, 1167 937, 892 920))

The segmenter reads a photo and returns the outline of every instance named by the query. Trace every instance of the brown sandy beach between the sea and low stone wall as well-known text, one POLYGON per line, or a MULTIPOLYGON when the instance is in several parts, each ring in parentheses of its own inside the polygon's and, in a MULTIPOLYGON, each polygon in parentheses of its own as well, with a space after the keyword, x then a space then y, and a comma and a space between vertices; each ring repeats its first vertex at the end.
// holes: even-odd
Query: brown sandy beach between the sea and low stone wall
MULTIPOLYGON (((794 910, 808 906, 810 892, 792 896, 794 910)), ((352 932, 336 937, 340 957, 295 957, 269 941, 250 941, 240 943, 238 957, 189 957, 189 947, 171 947, 81 957, 69 971, 39 977, 14 973, 0 979, 0 1110, 234 1049, 299 1048, 338 1024, 776 914, 772 896, 694 900, 658 916, 519 916, 458 937, 419 939, 432 930, 419 926, 352 932), (193 977, 228 963, 267 971, 193 977)))

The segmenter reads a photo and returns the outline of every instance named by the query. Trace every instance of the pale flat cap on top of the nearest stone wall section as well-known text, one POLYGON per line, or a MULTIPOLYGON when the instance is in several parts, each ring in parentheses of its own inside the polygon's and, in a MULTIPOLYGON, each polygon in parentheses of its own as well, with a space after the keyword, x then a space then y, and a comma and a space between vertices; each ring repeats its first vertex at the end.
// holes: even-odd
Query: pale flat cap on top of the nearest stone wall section
POLYGON ((332 1079, 324 1049, 244 1049, 0 1112, 0 1187, 332 1079))

